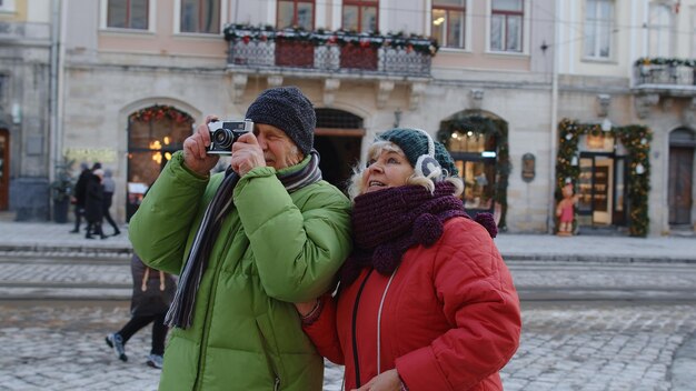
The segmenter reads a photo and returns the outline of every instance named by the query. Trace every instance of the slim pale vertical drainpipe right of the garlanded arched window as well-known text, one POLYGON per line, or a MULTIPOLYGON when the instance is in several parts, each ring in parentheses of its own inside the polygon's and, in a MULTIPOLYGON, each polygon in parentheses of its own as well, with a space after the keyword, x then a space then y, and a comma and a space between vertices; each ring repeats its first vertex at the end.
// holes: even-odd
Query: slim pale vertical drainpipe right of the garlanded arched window
POLYGON ((548 190, 548 217, 547 217, 547 231, 554 233, 555 211, 556 211, 556 151, 558 149, 558 56, 560 47, 558 46, 558 38, 560 37, 558 20, 560 18, 560 2, 564 0, 556 0, 555 2, 555 18, 554 18, 554 44, 553 58, 551 58, 551 129, 550 129, 550 157, 549 157, 549 190, 548 190))

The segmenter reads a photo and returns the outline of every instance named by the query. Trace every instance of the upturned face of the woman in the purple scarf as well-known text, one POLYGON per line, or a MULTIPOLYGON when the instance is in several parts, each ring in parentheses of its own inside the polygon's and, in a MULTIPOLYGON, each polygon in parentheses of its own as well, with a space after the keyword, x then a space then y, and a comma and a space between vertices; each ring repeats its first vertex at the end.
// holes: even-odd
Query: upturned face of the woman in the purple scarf
POLYGON ((414 168, 402 152, 382 149, 367 163, 362 173, 361 193, 405 186, 412 174, 414 168))

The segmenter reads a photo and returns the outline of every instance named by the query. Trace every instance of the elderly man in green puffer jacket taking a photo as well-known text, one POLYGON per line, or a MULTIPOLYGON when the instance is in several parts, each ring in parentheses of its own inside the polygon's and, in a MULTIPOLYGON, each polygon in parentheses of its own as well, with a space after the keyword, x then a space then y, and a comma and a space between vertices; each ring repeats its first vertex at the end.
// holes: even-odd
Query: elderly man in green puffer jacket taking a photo
POLYGON ((322 359, 292 302, 331 285, 351 250, 350 202, 321 180, 299 89, 264 91, 246 118, 253 132, 225 173, 209 176, 218 156, 201 124, 130 221, 142 260, 180 274, 161 390, 321 390, 322 359))

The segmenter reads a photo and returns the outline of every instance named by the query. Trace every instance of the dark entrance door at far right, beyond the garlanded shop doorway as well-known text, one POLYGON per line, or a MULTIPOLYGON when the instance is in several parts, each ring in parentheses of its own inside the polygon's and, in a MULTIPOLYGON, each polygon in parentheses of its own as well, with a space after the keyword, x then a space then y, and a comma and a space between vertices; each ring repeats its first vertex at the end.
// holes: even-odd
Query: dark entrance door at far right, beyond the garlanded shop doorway
POLYGON ((690 225, 694 149, 669 148, 669 224, 690 225))

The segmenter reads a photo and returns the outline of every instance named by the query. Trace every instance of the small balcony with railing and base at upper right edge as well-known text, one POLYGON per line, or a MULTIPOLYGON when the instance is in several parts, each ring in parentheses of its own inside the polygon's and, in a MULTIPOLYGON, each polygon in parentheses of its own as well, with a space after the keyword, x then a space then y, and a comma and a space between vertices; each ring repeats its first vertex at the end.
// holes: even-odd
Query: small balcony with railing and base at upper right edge
POLYGON ((638 93, 696 97, 696 59, 642 58, 634 63, 638 93))

